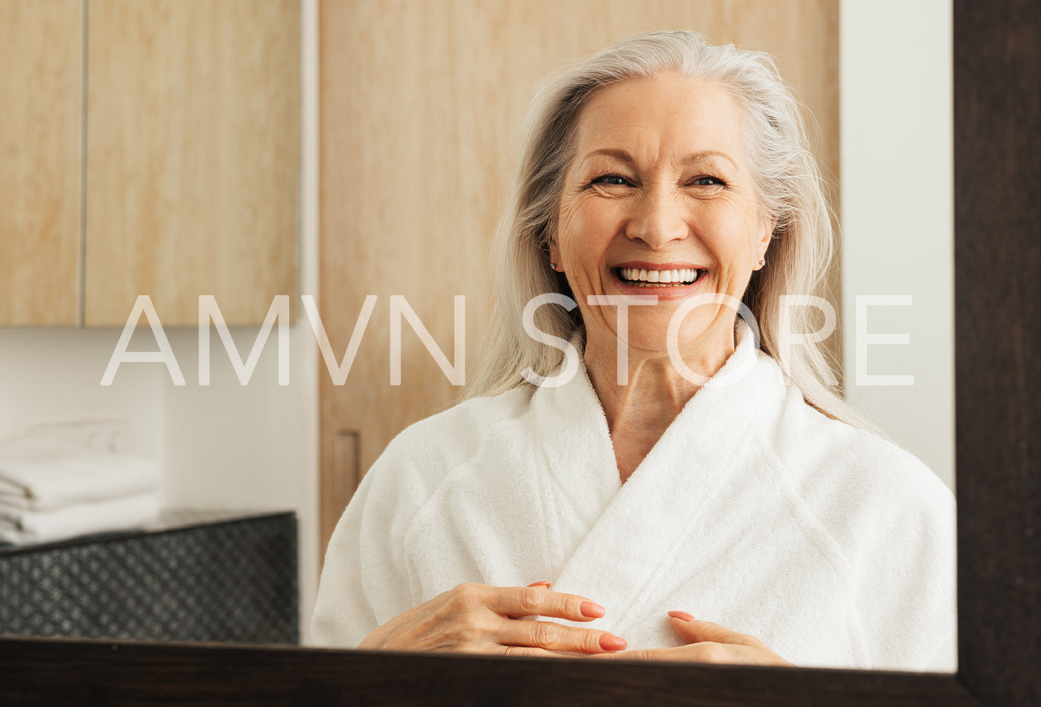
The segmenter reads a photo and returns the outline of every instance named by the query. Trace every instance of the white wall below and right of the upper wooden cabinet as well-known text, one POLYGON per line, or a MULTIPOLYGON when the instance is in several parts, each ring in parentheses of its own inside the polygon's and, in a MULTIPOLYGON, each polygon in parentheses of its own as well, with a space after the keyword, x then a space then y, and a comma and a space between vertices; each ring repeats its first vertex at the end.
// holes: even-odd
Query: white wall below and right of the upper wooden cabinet
MULTIPOLYGON (((318 291, 318 11, 303 0, 303 184, 301 292, 318 291)), ((220 305, 220 303, 218 303, 220 305)), ((133 303, 127 303, 127 314, 133 303)), ((174 386, 157 363, 121 365, 100 385, 121 330, 0 328, 0 440, 34 425, 122 421, 119 447, 160 462, 167 507, 290 509, 300 547, 301 638, 318 588, 318 352, 297 300, 290 333, 290 385, 278 385, 275 333, 247 386, 218 336, 211 336, 210 385, 198 385, 198 332, 167 329, 186 384, 174 386)), ((232 330, 245 359, 256 329, 232 330)), ((130 350, 156 350, 147 325, 130 350)))

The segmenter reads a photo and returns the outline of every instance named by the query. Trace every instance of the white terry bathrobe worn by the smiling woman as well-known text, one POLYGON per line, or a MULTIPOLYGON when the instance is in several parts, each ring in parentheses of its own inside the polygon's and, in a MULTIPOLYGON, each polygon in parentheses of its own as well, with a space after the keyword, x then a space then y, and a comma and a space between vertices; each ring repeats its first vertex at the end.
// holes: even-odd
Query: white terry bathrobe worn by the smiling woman
POLYGON ((954 672, 950 491, 807 405, 751 339, 625 485, 581 368, 407 428, 333 532, 314 643, 356 647, 461 582, 551 580, 634 649, 682 645, 680 609, 797 665, 954 672))

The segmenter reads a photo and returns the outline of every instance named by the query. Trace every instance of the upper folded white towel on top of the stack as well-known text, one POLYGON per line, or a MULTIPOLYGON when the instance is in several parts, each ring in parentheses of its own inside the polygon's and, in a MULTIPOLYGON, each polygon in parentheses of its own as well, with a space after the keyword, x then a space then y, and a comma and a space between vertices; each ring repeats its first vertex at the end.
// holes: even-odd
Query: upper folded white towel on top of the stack
POLYGON ((0 505, 53 510, 131 496, 162 487, 159 466, 49 439, 0 445, 0 505))

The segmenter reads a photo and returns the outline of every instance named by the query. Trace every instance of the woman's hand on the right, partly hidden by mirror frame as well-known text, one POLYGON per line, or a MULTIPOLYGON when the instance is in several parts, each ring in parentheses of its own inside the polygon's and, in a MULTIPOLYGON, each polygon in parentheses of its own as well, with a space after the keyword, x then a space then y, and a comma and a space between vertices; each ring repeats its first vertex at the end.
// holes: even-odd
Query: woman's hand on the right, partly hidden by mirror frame
POLYGON ((598 658, 629 660, 691 660, 711 663, 746 663, 756 665, 794 665, 766 648, 759 638, 738 633, 719 624, 699 621, 686 611, 669 611, 672 628, 687 641, 678 648, 655 648, 626 651, 598 658))

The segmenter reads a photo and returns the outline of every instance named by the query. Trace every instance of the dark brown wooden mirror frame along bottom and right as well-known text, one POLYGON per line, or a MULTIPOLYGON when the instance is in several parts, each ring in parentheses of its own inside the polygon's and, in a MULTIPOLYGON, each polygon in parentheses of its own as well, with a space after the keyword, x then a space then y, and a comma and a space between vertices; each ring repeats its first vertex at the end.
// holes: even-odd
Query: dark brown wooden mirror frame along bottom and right
POLYGON ((956 675, 18 638, 0 704, 1041 704, 1041 5, 954 22, 956 675))

